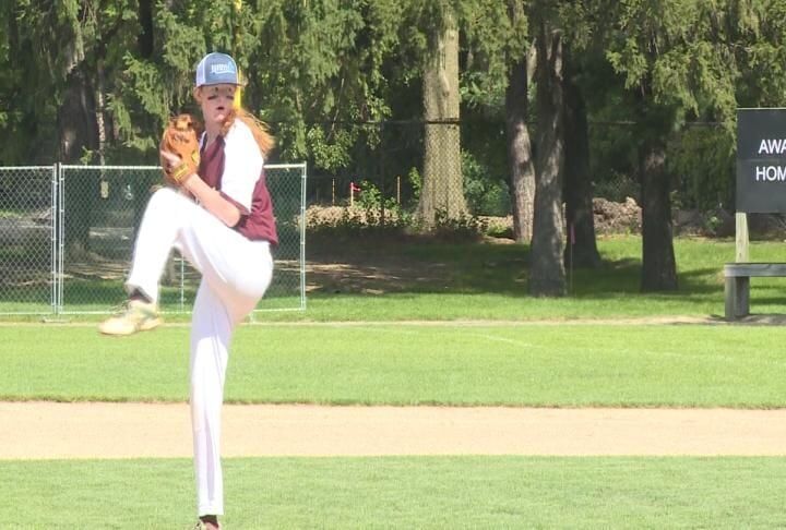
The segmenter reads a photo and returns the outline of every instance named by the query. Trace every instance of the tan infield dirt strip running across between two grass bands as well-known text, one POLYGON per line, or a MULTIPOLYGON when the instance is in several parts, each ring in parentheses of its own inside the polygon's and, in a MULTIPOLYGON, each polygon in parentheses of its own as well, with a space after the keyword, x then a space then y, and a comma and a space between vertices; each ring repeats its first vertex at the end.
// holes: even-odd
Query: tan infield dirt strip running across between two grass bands
MULTIPOLYGON (((190 457, 186 403, 0 402, 0 460, 190 457)), ((225 405, 225 457, 784 456, 786 410, 225 405)))

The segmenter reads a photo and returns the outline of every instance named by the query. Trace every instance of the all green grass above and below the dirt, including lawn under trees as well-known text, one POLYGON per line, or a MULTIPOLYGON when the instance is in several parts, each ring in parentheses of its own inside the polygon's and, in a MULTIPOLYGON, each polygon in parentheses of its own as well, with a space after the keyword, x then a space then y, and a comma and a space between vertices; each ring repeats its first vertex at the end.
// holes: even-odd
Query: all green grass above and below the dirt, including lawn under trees
MULTIPOLYGON (((442 281, 331 286, 305 313, 258 315, 235 337, 227 400, 786 407, 783 327, 599 321, 720 314, 734 242, 677 240, 668 294, 639 293, 638 238, 600 246, 604 268, 574 272, 559 300, 526 296, 522 246, 395 249, 442 281), (396 322, 416 320, 457 322, 396 322)), ((751 256, 783 250, 757 242, 751 256)), ((784 281, 754 280, 753 311, 786 313, 784 281)), ((1 399, 186 400, 187 325, 111 339, 98 316, 70 318, 0 326, 1 399)), ((786 527, 784 458, 237 458, 225 471, 229 530, 786 527)), ((0 460, 0 528, 190 528, 192 482, 184 459, 0 460)))

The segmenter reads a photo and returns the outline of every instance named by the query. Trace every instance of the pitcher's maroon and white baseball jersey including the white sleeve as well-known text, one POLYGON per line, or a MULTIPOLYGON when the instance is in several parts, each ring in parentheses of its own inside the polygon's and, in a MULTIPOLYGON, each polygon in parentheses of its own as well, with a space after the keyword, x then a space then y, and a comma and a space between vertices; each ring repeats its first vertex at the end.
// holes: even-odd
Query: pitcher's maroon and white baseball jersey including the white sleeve
POLYGON ((252 241, 277 245, 264 159, 249 127, 236 119, 226 136, 218 136, 207 147, 204 142, 203 134, 199 176, 240 210, 240 220, 234 228, 252 241))

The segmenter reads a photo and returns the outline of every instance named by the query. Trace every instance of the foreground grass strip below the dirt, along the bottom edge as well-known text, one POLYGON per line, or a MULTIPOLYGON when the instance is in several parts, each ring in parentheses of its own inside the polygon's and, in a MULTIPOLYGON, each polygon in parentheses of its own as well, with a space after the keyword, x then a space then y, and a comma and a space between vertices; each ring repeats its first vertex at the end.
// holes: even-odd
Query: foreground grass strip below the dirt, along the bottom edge
MULTIPOLYGON (((783 528, 783 458, 225 460, 227 529, 783 528)), ((190 529, 190 460, 2 462, 2 528, 190 529)))

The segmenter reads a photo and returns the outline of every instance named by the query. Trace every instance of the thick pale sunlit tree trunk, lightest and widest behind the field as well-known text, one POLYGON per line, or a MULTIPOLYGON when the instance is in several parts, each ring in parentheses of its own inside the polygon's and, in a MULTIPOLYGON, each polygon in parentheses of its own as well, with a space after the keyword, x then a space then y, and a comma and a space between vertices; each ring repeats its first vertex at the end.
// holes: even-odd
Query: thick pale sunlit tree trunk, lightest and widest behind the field
POLYGON ((458 131, 458 29, 450 10, 431 39, 422 88, 426 130, 417 215, 426 226, 433 226, 438 214, 455 218, 467 212, 458 131))

